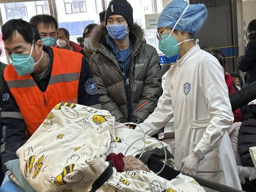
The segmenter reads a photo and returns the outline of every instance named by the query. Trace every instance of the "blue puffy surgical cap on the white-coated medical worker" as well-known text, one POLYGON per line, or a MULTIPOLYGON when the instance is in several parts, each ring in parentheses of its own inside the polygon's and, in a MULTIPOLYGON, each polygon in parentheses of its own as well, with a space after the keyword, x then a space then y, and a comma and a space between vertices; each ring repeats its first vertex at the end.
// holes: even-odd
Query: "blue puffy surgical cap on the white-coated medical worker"
MULTIPOLYGON (((187 3, 184 0, 173 0, 160 14, 157 28, 164 26, 173 28, 186 7, 187 3)), ((204 25, 206 18, 206 6, 204 4, 192 4, 188 7, 175 29, 195 35, 204 25)))

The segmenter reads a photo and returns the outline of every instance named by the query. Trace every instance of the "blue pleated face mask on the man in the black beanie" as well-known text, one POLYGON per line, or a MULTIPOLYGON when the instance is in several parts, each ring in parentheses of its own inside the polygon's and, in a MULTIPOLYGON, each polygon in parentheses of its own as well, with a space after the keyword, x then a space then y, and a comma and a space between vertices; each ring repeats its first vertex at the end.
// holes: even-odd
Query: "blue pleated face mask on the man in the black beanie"
POLYGON ((129 34, 126 31, 126 27, 128 24, 113 24, 107 25, 108 34, 112 37, 115 41, 121 41, 125 39, 125 37, 129 34))

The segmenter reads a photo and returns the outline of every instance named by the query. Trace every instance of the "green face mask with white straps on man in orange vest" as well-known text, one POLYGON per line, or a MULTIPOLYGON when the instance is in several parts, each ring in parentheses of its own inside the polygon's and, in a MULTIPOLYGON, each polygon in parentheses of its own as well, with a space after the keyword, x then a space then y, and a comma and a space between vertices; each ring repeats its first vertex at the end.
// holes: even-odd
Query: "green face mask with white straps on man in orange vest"
POLYGON ((31 74, 34 70, 35 64, 37 64, 43 57, 43 50, 42 55, 39 58, 39 60, 35 63, 34 58, 32 57, 32 52, 34 48, 34 40, 32 42, 30 54, 11 54, 9 55, 11 58, 12 66, 15 68, 17 74, 19 76, 24 76, 27 74, 31 74))

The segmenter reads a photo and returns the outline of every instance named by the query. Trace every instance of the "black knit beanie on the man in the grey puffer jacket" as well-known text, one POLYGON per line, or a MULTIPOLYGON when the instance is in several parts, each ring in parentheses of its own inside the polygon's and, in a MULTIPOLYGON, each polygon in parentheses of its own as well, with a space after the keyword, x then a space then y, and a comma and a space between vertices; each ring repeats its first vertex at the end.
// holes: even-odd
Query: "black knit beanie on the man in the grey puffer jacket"
POLYGON ((108 17, 111 15, 122 15, 128 23, 128 27, 134 24, 133 9, 127 0, 112 0, 109 2, 106 10, 105 23, 107 25, 108 17))

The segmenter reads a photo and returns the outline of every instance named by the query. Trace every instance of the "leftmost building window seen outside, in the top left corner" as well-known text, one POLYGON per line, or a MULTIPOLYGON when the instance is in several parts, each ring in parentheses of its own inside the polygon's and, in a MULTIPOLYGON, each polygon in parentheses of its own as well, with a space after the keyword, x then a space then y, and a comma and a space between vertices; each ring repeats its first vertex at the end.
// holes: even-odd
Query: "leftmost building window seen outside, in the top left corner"
POLYGON ((4 7, 6 10, 7 20, 14 18, 28 18, 28 11, 24 2, 5 3, 4 7))

